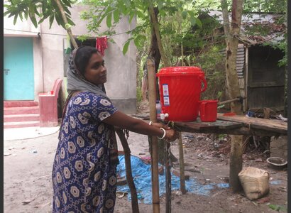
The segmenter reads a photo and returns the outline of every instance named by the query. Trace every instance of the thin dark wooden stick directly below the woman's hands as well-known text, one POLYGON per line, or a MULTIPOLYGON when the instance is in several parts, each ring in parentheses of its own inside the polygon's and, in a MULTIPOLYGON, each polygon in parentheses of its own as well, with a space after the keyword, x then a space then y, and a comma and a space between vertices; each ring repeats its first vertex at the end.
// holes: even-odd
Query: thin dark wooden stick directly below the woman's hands
POLYGON ((171 212, 171 169, 170 169, 170 143, 165 141, 165 212, 171 212))

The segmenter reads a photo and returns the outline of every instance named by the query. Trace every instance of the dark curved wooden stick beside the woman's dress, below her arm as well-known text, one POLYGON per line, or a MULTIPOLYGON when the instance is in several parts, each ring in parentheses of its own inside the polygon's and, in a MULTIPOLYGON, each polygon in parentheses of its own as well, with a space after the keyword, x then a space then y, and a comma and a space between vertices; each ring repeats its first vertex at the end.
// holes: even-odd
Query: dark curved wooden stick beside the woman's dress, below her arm
MULTIPOLYGON (((115 127, 115 132, 119 136, 119 139, 121 141, 121 144, 123 146, 124 151, 124 160, 126 163, 126 180, 128 183, 128 187, 131 190, 131 208, 132 212, 139 213, 138 209, 138 195, 136 194, 136 185, 134 185, 133 177, 131 174, 131 149, 128 146, 126 137, 124 136, 124 133, 122 129, 115 127)), ((117 180, 116 180, 117 181, 117 180)))

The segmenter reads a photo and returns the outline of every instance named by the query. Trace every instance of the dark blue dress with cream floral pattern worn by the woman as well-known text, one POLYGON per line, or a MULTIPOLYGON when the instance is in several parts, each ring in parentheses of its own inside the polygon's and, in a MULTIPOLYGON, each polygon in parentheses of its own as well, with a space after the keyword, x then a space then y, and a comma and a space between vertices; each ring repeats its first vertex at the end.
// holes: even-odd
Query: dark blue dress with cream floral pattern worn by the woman
POLYGON ((116 111, 109 99, 92 92, 68 102, 53 163, 53 212, 114 212, 115 133, 102 121, 116 111))

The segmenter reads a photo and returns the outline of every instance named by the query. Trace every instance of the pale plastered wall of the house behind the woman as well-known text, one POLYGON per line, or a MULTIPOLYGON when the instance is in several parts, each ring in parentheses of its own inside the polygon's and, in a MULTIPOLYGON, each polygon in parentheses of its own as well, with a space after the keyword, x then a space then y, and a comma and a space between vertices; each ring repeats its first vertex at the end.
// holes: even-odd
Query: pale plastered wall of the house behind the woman
MULTIPOLYGON (((84 6, 73 6, 71 9, 72 20, 76 24, 76 26, 72 27, 72 33, 75 36, 88 34, 86 23, 79 18, 79 12, 84 9, 86 9, 84 6)), ((108 43, 108 48, 105 50, 104 56, 107 67, 106 92, 116 102, 123 102, 123 105, 128 102, 130 105, 126 107, 129 109, 129 111, 126 111, 128 113, 136 111, 136 47, 131 44, 126 55, 123 55, 122 48, 128 39, 128 35, 124 32, 135 26, 136 21, 134 19, 129 24, 128 18, 123 18, 114 29, 116 33, 122 34, 111 37, 115 43, 108 43)), ((106 23, 102 23, 100 32, 106 30, 106 23)), ((38 28, 34 28, 31 21, 21 22, 19 20, 14 26, 13 18, 4 17, 4 36, 35 37, 33 39, 33 60, 36 101, 38 101, 38 93, 50 91, 58 77, 64 79, 63 40, 67 38, 67 32, 62 27, 57 26, 57 23, 54 22, 52 27, 49 28, 49 22, 47 20, 41 23, 38 28), (40 32, 40 37, 37 32, 40 32)), ((97 37, 97 34, 93 34, 92 36, 97 37)), ((64 83, 62 85, 62 89, 65 89, 64 83)))

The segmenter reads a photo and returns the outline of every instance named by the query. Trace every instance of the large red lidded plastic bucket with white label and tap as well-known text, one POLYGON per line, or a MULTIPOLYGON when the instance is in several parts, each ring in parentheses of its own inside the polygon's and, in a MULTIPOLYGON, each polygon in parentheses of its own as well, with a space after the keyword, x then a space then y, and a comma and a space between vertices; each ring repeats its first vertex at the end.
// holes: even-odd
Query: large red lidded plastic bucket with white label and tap
POLYGON ((156 76, 159 80, 161 113, 168 114, 165 120, 195 121, 200 94, 207 89, 201 68, 164 67, 156 76))

